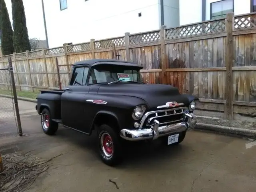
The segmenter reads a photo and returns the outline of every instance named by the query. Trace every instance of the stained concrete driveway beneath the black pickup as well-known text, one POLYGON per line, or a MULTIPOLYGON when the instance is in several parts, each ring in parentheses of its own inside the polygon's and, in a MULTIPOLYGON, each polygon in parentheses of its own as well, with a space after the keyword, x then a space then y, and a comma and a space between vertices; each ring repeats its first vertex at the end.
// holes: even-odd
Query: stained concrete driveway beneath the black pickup
POLYGON ((29 136, 0 139, 2 154, 32 150, 38 157, 51 158, 64 153, 34 182, 31 192, 254 192, 256 188, 253 140, 189 131, 178 146, 164 147, 159 141, 127 145, 124 163, 112 168, 100 161, 95 135, 60 126, 55 136, 47 136, 33 112, 22 115, 22 128, 29 136))

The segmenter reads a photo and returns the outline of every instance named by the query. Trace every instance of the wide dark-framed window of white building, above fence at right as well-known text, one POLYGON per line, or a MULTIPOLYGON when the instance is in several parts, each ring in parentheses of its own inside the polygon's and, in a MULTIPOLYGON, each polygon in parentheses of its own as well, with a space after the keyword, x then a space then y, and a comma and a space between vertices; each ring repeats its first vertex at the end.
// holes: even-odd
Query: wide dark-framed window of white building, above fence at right
POLYGON ((233 0, 222 0, 211 3, 211 19, 225 18, 228 13, 232 13, 234 11, 233 5, 233 0))

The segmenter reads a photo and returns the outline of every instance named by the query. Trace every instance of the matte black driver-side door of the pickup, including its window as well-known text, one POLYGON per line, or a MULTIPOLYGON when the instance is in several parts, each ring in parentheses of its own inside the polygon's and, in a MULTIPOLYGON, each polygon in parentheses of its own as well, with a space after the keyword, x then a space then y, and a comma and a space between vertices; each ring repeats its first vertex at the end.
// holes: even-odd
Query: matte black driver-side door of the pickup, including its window
POLYGON ((61 116, 64 126, 79 131, 84 129, 86 94, 90 86, 86 85, 89 66, 78 66, 72 72, 70 85, 61 96, 61 116))

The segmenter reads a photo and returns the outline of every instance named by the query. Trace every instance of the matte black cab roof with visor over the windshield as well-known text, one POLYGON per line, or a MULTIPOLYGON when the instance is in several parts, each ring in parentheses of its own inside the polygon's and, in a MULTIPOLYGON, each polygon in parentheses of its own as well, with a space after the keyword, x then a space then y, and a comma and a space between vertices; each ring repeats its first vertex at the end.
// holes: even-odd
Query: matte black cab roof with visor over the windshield
POLYGON ((82 60, 74 63, 74 67, 88 64, 89 66, 96 66, 100 64, 112 64, 112 65, 119 65, 119 66, 131 66, 131 67, 138 67, 143 69, 142 66, 139 66, 136 63, 123 61, 123 60, 114 60, 114 59, 90 59, 90 60, 82 60))

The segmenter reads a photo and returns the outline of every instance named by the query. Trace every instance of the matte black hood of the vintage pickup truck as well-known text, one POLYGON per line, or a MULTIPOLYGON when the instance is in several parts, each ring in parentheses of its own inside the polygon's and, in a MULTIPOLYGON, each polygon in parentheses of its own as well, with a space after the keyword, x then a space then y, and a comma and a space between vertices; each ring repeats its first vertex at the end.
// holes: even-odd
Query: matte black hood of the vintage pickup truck
POLYGON ((115 96, 134 96, 145 100, 154 110, 157 106, 165 105, 166 102, 176 101, 189 105, 188 96, 180 94, 178 88, 163 84, 134 84, 114 83, 101 85, 98 94, 113 94, 115 96))

